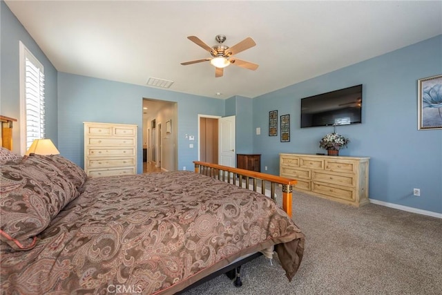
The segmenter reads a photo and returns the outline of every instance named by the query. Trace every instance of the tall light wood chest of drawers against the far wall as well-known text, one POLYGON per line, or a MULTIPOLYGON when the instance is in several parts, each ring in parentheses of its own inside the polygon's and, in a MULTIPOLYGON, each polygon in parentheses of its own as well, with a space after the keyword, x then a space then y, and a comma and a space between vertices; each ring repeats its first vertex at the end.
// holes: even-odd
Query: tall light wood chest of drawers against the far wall
POLYGON ((137 125, 84 122, 84 170, 91 177, 137 173, 137 125))

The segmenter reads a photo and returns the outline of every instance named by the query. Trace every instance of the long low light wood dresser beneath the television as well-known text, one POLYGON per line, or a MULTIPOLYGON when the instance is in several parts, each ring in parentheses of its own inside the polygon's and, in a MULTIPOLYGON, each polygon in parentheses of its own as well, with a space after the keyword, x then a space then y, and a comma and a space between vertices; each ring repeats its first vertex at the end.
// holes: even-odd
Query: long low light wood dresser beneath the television
POLYGON ((280 176, 294 189, 359 207, 368 199, 369 158, 280 153, 280 176))

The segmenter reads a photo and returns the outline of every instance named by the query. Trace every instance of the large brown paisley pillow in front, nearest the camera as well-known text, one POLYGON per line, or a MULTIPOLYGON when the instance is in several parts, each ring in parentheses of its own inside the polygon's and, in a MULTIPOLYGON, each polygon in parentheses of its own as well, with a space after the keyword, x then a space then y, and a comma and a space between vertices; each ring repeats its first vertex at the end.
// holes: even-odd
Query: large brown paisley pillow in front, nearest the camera
POLYGON ((77 196, 75 184, 44 157, 1 164, 1 240, 15 250, 32 249, 36 236, 77 196))

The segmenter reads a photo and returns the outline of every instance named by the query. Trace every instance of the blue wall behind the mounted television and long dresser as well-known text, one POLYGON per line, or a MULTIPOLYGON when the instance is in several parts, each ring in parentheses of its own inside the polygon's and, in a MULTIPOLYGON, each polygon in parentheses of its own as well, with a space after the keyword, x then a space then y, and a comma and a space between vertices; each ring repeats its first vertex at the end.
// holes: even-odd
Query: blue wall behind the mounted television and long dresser
MULTIPOLYGON (((363 84, 363 124, 338 126, 340 155, 368 156, 369 197, 442 213, 442 131, 417 130, 417 79, 442 73, 442 35, 253 99, 254 152, 279 173, 278 153, 324 153, 333 127, 300 129, 300 99, 363 84), (269 111, 290 114, 291 140, 269 137, 269 111), (421 197, 412 195, 421 189, 421 197)), ((278 131, 278 135, 279 135, 278 131)))

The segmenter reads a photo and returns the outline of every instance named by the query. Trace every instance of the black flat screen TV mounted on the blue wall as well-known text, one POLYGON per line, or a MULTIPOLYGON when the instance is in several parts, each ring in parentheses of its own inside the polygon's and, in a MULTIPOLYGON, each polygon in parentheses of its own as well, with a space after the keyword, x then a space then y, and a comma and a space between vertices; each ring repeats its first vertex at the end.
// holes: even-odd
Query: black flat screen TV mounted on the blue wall
POLYGON ((362 123, 362 84, 301 99, 301 128, 362 123))

